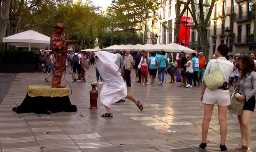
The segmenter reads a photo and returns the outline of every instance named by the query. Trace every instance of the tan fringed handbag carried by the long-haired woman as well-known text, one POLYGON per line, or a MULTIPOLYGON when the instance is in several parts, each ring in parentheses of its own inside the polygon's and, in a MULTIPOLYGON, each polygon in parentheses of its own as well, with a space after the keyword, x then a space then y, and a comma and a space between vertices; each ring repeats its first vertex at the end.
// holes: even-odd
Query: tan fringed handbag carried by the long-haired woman
POLYGON ((231 96, 230 105, 228 106, 228 111, 230 111, 234 114, 237 114, 239 116, 242 116, 245 100, 243 100, 243 101, 238 100, 235 97, 236 93, 237 92, 235 91, 231 96))

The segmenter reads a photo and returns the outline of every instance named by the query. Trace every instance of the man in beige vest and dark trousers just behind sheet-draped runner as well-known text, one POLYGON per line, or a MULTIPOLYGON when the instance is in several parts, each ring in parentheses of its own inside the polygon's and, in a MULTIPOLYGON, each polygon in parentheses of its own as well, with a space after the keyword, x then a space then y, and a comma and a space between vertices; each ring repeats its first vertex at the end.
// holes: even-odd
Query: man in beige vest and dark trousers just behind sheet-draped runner
POLYGON ((130 72, 133 68, 133 56, 130 54, 130 50, 126 50, 126 57, 123 60, 124 77, 126 80, 126 86, 131 87, 130 83, 130 72))

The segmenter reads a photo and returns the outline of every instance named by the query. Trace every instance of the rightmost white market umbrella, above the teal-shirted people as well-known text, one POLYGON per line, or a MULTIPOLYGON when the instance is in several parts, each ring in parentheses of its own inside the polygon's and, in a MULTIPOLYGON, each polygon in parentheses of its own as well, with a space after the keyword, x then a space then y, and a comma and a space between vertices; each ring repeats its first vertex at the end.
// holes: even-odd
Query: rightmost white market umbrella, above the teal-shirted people
POLYGON ((165 52, 176 52, 176 53, 180 53, 182 51, 184 51, 186 54, 190 54, 190 53, 197 53, 195 50, 192 50, 190 48, 186 48, 182 45, 176 44, 176 43, 170 43, 167 45, 163 45, 161 47, 158 48, 159 50, 163 50, 165 52))

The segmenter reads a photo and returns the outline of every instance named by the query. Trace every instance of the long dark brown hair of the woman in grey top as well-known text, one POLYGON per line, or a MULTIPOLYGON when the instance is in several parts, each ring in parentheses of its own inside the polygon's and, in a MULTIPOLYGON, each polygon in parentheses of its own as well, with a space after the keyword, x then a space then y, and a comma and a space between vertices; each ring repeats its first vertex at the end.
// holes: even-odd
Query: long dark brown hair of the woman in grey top
POLYGON ((244 55, 240 62, 240 70, 241 70, 242 76, 244 76, 247 73, 250 73, 252 71, 256 71, 254 59, 252 59, 248 55, 244 55))

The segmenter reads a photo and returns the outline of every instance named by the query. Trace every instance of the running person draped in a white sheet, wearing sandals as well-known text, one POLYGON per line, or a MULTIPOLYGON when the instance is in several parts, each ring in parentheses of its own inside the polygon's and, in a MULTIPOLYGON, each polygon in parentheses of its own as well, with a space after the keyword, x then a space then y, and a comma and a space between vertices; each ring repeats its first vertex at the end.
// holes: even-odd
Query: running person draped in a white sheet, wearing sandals
POLYGON ((122 98, 132 100, 141 111, 143 109, 139 101, 127 94, 126 83, 118 71, 119 67, 115 64, 116 59, 117 56, 109 52, 99 51, 95 53, 97 68, 105 82, 100 91, 100 101, 104 104, 107 113, 103 114, 102 117, 113 117, 110 107, 122 98))

